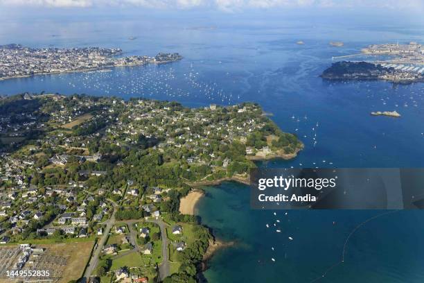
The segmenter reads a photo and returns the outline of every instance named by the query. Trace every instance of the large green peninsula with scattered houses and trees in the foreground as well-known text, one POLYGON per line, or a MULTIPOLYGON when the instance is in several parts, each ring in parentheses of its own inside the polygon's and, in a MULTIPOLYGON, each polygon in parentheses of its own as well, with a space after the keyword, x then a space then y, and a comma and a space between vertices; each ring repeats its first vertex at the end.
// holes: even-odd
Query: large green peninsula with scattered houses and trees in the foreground
POLYGON ((180 199, 303 148, 255 103, 28 93, 1 98, 0 141, 0 279, 16 282, 43 264, 31 280, 195 282, 213 236, 180 199))

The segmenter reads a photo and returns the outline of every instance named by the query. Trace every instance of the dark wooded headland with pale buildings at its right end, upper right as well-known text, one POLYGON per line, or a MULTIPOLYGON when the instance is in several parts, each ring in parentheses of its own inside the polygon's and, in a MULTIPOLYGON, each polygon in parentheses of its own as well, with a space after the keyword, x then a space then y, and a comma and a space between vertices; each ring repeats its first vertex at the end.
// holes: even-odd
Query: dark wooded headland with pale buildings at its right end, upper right
POLYGON ((389 80, 393 83, 423 82, 423 74, 382 67, 369 62, 335 62, 328 67, 321 78, 327 80, 389 80))

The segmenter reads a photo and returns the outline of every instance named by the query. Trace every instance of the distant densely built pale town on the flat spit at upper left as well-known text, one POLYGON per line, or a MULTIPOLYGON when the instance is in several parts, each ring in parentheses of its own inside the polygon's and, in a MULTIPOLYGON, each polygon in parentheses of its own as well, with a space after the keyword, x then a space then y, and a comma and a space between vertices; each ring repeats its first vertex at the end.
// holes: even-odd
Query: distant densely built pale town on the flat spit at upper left
POLYGON ((182 59, 178 53, 121 56, 121 49, 79 47, 58 49, 30 48, 20 44, 0 46, 0 80, 39 74, 60 74, 73 71, 104 70, 146 64, 164 64, 182 59))

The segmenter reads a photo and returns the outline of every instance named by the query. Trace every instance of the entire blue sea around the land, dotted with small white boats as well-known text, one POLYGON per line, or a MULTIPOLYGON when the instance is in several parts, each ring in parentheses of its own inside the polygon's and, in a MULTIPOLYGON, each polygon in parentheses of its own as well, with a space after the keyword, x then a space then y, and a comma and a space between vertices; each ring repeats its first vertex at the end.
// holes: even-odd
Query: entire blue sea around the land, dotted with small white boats
MULTIPOLYGON (((423 23, 373 17, 341 21, 342 16, 332 22, 277 13, 93 12, 71 17, 0 11, 0 16, 0 44, 105 46, 120 47, 123 55, 161 51, 184 56, 161 66, 4 80, 0 94, 142 96, 191 107, 254 101, 305 144, 294 160, 259 166, 424 166, 422 83, 319 78, 333 56, 358 53, 368 44, 424 43, 423 23), (296 44, 299 40, 305 44, 296 44), (330 46, 330 41, 344 46, 330 46), (393 110, 402 117, 370 115, 393 110)), ((424 282, 423 212, 276 211, 275 216, 251 210, 244 185, 227 182, 205 191, 197 214, 219 239, 236 241, 209 262, 204 273, 209 282, 424 282)))

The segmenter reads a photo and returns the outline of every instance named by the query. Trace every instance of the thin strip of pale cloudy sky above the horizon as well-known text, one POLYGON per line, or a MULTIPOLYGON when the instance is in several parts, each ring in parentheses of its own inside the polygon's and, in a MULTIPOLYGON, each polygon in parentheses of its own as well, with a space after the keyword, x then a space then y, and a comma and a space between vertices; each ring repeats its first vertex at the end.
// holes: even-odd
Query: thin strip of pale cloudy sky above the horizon
POLYGON ((0 0, 1 7, 105 8, 141 7, 191 10, 205 8, 223 12, 274 8, 381 8, 424 12, 424 0, 0 0))

